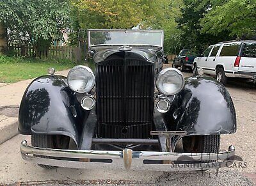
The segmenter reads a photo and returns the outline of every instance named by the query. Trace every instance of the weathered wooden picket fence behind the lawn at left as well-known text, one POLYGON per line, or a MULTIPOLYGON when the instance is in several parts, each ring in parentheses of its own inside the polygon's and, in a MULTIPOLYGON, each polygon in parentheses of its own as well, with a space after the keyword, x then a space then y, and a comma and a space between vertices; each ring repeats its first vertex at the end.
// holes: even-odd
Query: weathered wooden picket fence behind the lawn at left
POLYGON ((85 58, 85 51, 74 46, 57 46, 44 51, 38 51, 34 47, 26 45, 10 45, 8 48, 9 51, 14 52, 15 56, 70 59, 76 62, 82 61, 85 58))

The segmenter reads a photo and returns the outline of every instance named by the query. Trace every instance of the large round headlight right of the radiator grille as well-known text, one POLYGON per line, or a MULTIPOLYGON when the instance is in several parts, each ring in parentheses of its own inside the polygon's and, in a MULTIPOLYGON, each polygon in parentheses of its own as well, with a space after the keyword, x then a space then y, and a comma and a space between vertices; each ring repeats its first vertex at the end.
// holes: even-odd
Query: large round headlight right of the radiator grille
POLYGON ((175 95, 184 88, 184 76, 176 68, 165 68, 159 72, 156 80, 157 89, 164 95, 175 95))

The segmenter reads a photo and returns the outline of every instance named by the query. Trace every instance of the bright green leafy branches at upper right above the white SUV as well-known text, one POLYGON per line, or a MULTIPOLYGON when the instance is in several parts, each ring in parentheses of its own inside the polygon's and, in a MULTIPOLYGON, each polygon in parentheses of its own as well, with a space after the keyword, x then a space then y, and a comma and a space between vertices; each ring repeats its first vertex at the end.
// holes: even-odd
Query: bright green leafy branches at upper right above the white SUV
POLYGON ((212 6, 200 24, 202 33, 216 36, 228 32, 230 36, 250 38, 256 35, 255 17, 255 0, 228 0, 212 6))

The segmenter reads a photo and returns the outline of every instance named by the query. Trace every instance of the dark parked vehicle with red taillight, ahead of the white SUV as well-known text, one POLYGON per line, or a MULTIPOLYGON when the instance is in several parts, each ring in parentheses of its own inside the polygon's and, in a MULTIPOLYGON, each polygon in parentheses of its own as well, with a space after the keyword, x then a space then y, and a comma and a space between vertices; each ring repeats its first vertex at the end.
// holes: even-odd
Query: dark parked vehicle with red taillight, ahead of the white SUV
POLYGON ((180 50, 178 56, 173 60, 172 67, 180 67, 180 71, 184 71, 186 68, 192 69, 193 61, 196 58, 196 55, 191 52, 191 50, 182 49, 180 50))

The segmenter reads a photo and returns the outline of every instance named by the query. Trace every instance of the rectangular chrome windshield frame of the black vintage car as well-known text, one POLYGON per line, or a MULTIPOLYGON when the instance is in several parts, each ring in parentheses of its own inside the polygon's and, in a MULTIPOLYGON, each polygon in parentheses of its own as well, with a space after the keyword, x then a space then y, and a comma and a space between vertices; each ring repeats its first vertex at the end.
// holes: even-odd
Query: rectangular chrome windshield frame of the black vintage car
MULTIPOLYGON (((97 47, 97 46, 121 46, 122 44, 100 44, 100 45, 91 45, 91 32, 92 31, 120 31, 120 32, 161 32, 161 46, 159 45, 147 45, 147 44, 130 44, 130 46, 152 46, 152 47, 162 47, 163 49, 163 45, 164 45, 164 31, 161 29, 150 29, 150 30, 146 30, 146 29, 88 29, 87 30, 87 36, 88 36, 88 47, 97 47)), ((124 44, 127 45, 127 44, 124 44)))

